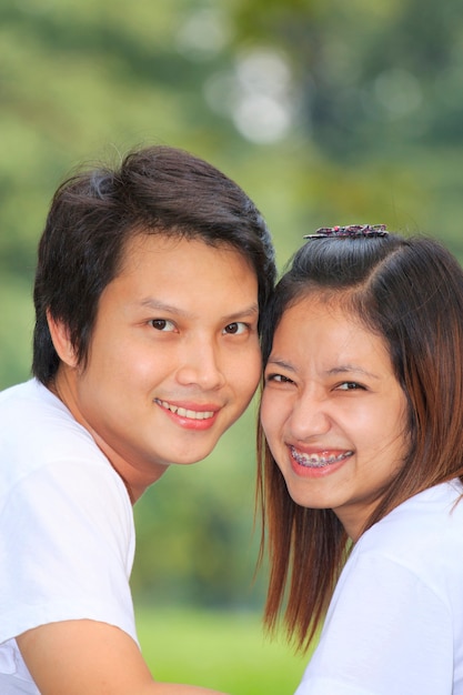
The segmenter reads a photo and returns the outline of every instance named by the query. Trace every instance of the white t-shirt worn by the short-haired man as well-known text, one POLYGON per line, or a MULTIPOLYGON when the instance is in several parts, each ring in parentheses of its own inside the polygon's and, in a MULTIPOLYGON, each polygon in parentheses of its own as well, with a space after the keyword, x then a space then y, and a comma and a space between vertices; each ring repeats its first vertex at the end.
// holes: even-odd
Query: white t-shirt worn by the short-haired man
POLYGON ((0 693, 37 694, 16 636, 94 620, 137 641, 125 486, 89 432, 36 380, 0 393, 0 693))

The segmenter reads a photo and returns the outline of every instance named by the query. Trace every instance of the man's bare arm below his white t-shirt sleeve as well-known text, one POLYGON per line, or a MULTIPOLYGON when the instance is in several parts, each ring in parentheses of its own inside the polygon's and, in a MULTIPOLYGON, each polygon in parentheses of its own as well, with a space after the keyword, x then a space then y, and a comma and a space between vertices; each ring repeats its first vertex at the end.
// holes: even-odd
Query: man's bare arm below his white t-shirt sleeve
POLYGON ((107 623, 50 623, 17 643, 42 695, 224 695, 154 681, 133 639, 107 623))

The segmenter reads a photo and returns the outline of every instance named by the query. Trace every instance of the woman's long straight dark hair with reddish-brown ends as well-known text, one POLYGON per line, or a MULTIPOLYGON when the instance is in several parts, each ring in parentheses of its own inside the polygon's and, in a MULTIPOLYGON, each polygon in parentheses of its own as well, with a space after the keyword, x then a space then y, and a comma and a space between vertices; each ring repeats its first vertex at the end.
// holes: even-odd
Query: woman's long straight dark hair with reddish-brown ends
MULTIPOLYGON (((412 495, 463 481, 463 271, 439 242, 416 236, 314 239, 293 258, 263 321, 264 362, 286 309, 311 294, 341 303, 382 336, 407 401, 404 465, 364 531, 412 495)), ((323 618, 350 541, 332 510, 295 504, 259 425, 258 508, 262 560, 270 555, 264 621, 284 611, 305 649, 323 618)))

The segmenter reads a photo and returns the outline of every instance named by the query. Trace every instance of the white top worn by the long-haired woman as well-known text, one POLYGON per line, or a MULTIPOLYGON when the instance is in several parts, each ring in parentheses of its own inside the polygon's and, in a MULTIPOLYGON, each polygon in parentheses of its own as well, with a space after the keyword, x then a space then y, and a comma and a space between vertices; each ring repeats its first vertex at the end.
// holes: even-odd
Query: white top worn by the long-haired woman
POLYGON ((463 694, 462 493, 436 485, 363 534, 296 695, 463 694))

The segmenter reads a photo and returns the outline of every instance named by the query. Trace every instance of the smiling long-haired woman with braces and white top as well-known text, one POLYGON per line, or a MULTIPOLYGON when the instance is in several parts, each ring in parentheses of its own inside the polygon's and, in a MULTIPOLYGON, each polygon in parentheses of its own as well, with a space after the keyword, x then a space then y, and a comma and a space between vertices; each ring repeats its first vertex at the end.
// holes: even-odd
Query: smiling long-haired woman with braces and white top
POLYGON ((322 229, 265 319, 265 624, 296 695, 463 693, 463 271, 437 242, 322 229))

